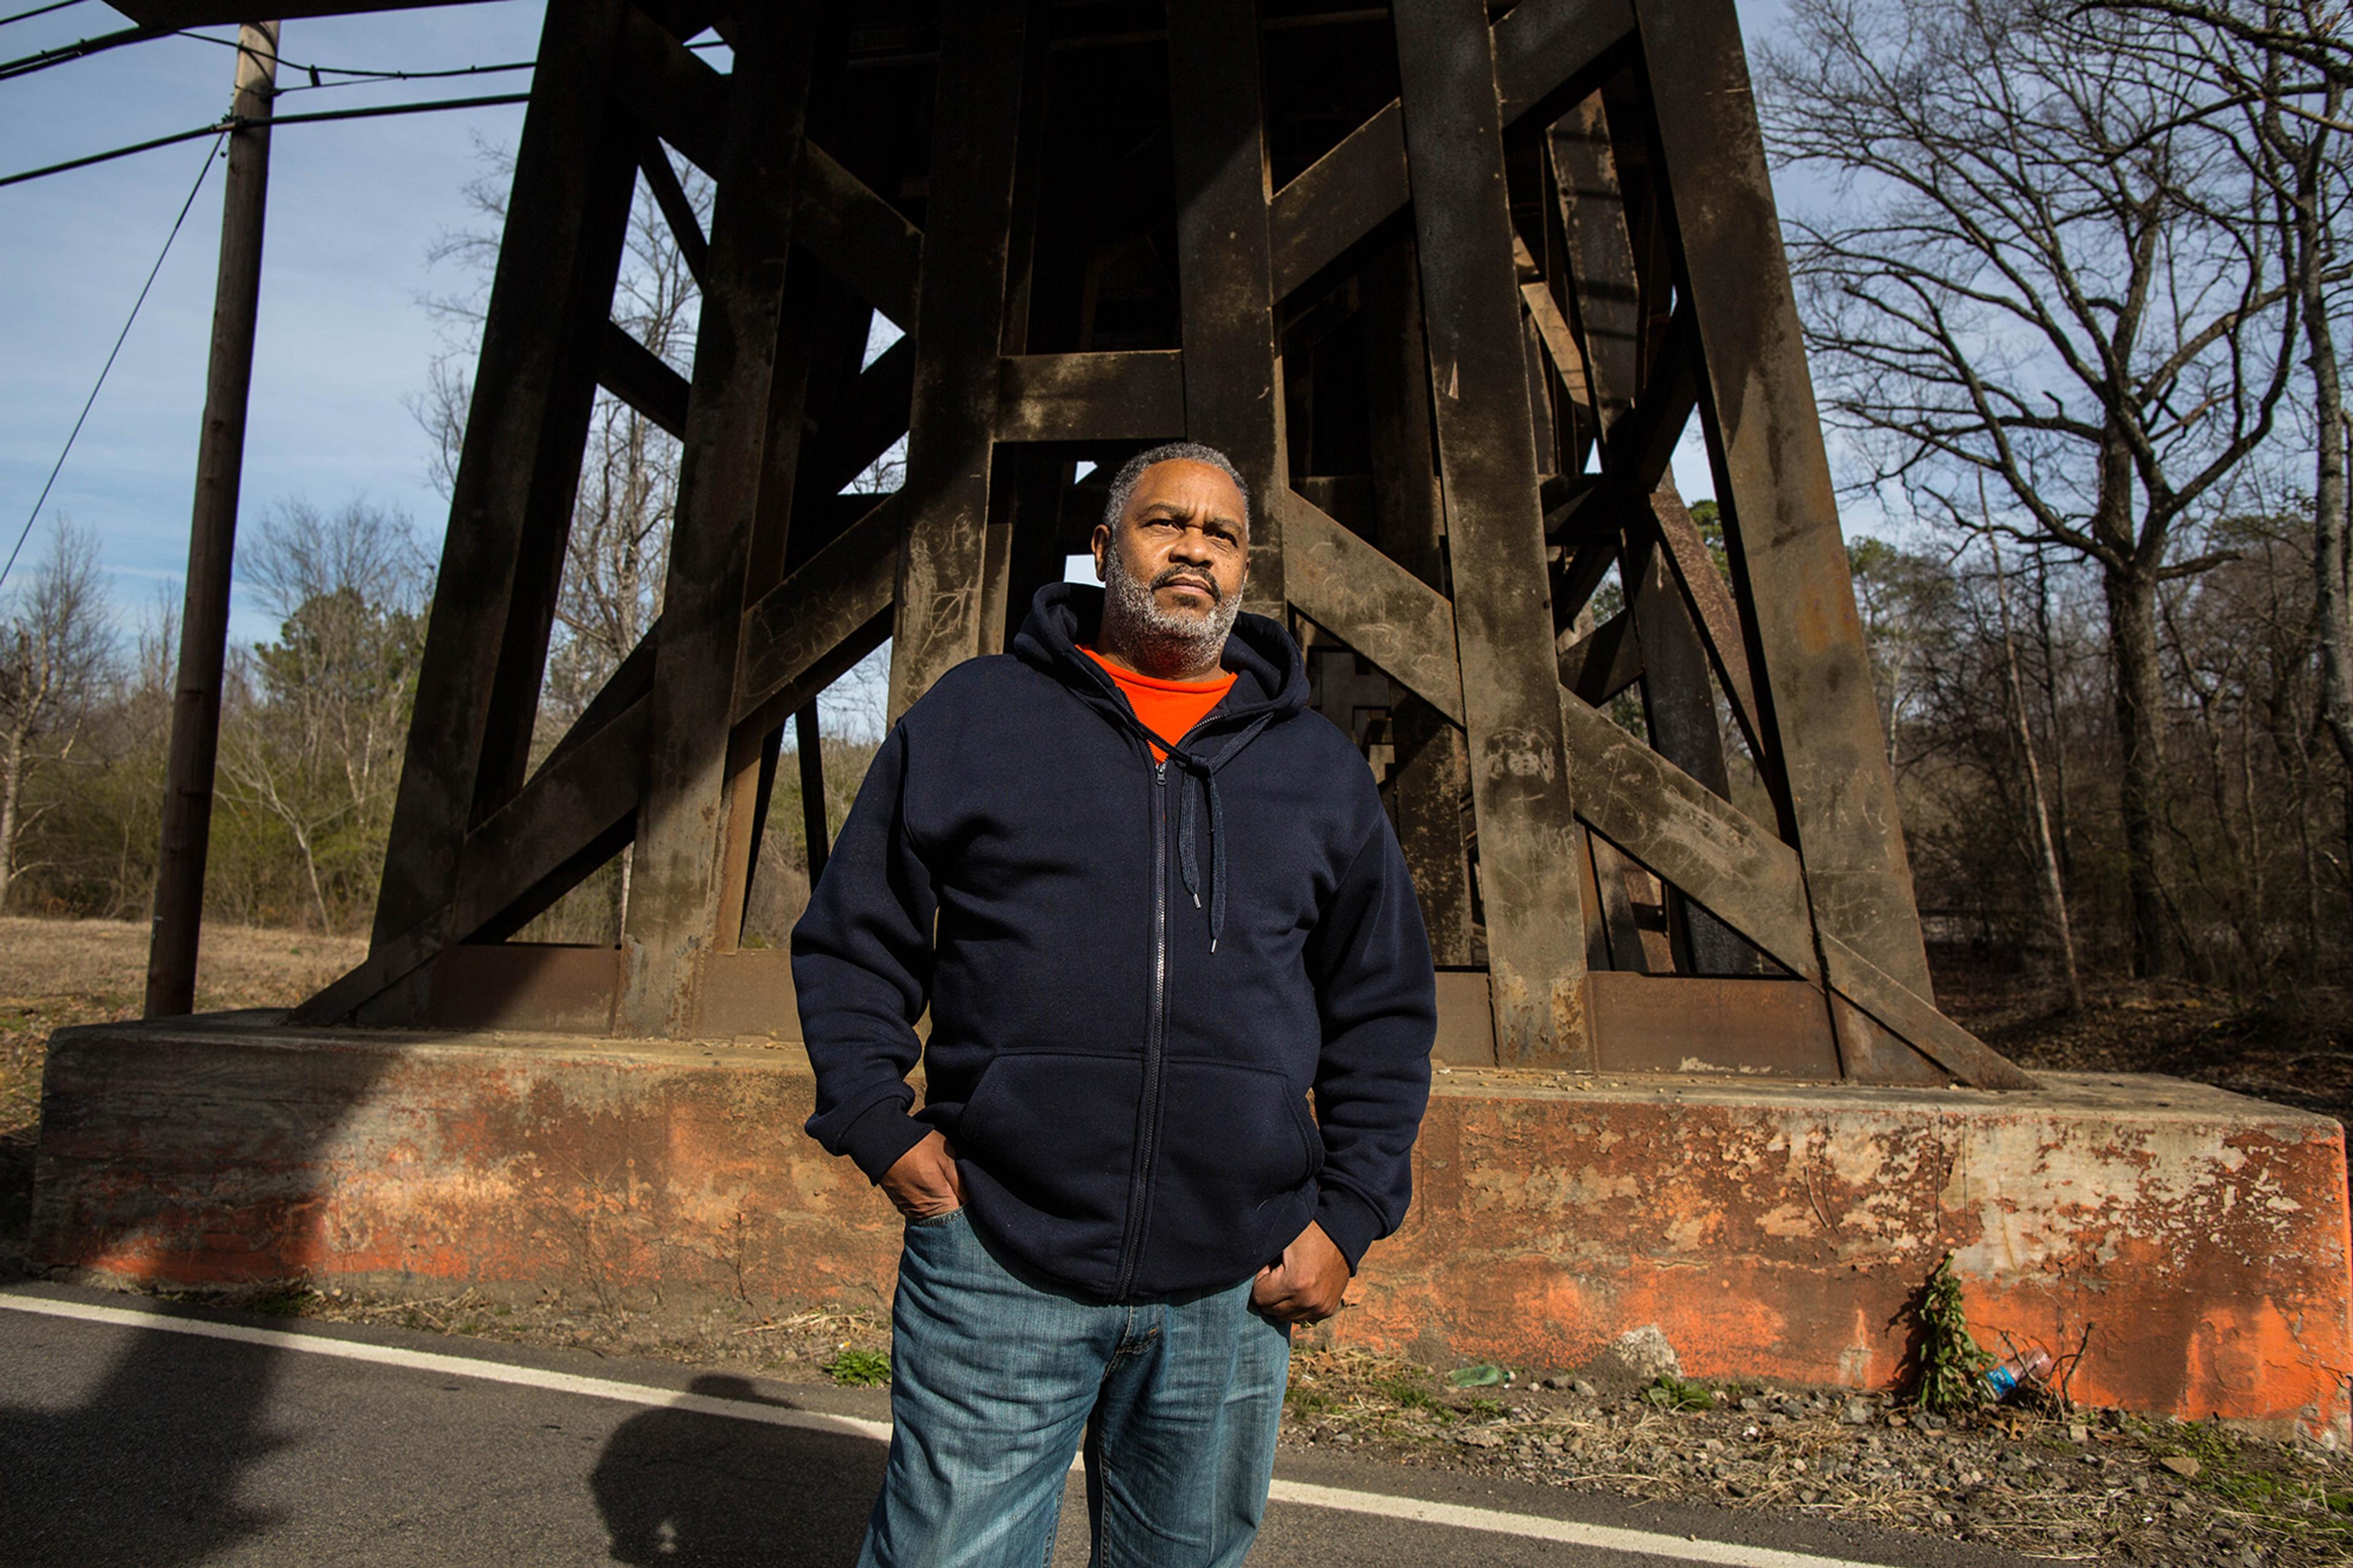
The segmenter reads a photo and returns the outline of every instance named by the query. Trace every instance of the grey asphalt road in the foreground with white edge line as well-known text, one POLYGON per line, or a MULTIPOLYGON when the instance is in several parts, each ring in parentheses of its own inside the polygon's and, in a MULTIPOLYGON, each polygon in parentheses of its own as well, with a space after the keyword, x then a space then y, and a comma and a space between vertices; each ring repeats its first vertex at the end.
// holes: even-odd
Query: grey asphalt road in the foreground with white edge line
MULTIPOLYGON (((21 1285, 0 1290, 0 1566, 847 1568, 887 1417, 880 1391, 21 1285)), ((1085 1547, 1073 1483, 1056 1568, 1080 1568, 1085 1547)), ((1252 1554, 1348 1568, 1673 1561, 2024 1563, 1320 1455, 1285 1455, 1252 1554)))

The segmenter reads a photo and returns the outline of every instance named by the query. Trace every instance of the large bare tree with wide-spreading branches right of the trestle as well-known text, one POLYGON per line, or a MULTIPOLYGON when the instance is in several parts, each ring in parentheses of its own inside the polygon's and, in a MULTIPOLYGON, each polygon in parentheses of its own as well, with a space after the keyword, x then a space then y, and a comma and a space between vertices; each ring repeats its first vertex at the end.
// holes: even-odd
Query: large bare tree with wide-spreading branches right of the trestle
POLYGON ((2097 563, 2122 739, 2134 965, 2172 963, 2158 586, 2271 436, 2299 297, 2271 193, 2151 68, 2137 28, 2033 0, 1795 0, 1760 85, 1786 162, 1840 200, 1791 221, 1831 417, 1864 487, 2097 563))

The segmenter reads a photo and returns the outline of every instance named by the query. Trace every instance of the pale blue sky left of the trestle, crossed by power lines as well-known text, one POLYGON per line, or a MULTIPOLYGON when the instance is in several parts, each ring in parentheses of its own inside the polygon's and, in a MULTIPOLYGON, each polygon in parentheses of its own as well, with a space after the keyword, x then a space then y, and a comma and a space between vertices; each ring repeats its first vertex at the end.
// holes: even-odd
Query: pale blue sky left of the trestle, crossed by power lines
MULTIPOLYGON (((26 0, 28 2, 28 0, 26 0)), ((1751 40, 1784 0, 1741 0, 1751 40)), ((21 9, 21 5, 0 7, 21 9)), ((529 59, 539 0, 301 19, 282 59, 433 71, 529 59)), ((125 26, 108 5, 0 28, 0 59, 125 26)), ((226 38, 228 28, 209 28, 226 38)), ((235 54, 169 38, 0 82, 0 172, 78 158, 205 125, 226 108, 235 54)), ((299 73, 282 80, 299 82, 299 73)), ((332 80, 332 78, 329 78, 332 80)), ((520 92, 527 73, 296 92, 282 113, 520 92)), ((254 346, 240 530, 280 501, 336 506, 355 494, 405 511, 438 549, 442 499, 407 400, 438 346, 424 294, 466 285, 428 266, 435 235, 473 221, 464 184, 480 141, 513 146, 522 108, 301 125, 275 134, 254 346)), ((207 141, 0 188, 0 553, 14 542, 59 445, 139 294, 207 141)), ((176 598, 205 396, 221 177, 214 167, 139 315, 122 358, 42 509, 99 537, 118 619, 176 598)), ((1694 443, 1678 454, 1685 494, 1708 494, 1694 443)), ((28 546, 33 553, 40 539, 28 546)), ((21 567, 19 567, 21 570, 21 567)), ((271 636, 240 593, 238 640, 271 636)))

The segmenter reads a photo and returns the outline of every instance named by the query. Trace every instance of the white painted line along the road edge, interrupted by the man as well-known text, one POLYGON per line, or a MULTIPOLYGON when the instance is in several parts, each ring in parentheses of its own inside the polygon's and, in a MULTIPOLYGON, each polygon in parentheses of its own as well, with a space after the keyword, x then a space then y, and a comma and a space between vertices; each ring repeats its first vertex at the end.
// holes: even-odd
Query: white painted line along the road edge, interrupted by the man
MULTIPOLYGON (((355 1340, 332 1340, 327 1335, 304 1335, 282 1328, 245 1328, 242 1323, 207 1323, 202 1318, 176 1318, 158 1311, 132 1311, 125 1307, 92 1307, 87 1302, 59 1302, 40 1295, 0 1293, 0 1309, 28 1311, 49 1318, 75 1318, 80 1323, 106 1323, 108 1328, 136 1328, 146 1333, 193 1335, 198 1340, 231 1340, 235 1344, 266 1344, 271 1349, 299 1351, 306 1356, 334 1356, 339 1361, 365 1361, 369 1366, 395 1366, 412 1373, 442 1373, 452 1377, 478 1377, 482 1382, 506 1382, 525 1389, 548 1389, 551 1394, 581 1394, 586 1398, 609 1398, 624 1406, 647 1406, 656 1410, 694 1410, 699 1415, 722 1415, 741 1422, 769 1427, 793 1427, 800 1431, 831 1431, 835 1436, 889 1441, 889 1422, 868 1422, 856 1415, 826 1415, 821 1410, 784 1410, 779 1406, 744 1398, 713 1398, 708 1394, 682 1394, 656 1389, 642 1382, 616 1377, 579 1377, 576 1373, 548 1373, 534 1366, 508 1361, 480 1361, 475 1356, 442 1356, 438 1351, 414 1351, 398 1344, 360 1344, 355 1340)), ((1071 1469, 1078 1469, 1073 1464, 1071 1469)), ((1842 1556, 1812 1556, 1807 1552, 1777 1552, 1772 1547, 1741 1547, 1722 1540, 1697 1540, 1682 1535, 1659 1535, 1654 1530, 1624 1530, 1617 1526, 1579 1523, 1574 1519, 1546 1519, 1544 1514, 1506 1514, 1504 1509, 1478 1509, 1459 1502, 1424 1502, 1421 1497, 1391 1497, 1386 1493, 1353 1493, 1337 1486, 1311 1486, 1306 1481, 1275 1481, 1268 1497, 1311 1509, 1334 1509, 1341 1514, 1374 1514, 1379 1519, 1405 1519, 1412 1523, 1435 1523, 1457 1530, 1487 1530, 1492 1535, 1520 1535, 1527 1540, 1555 1540, 1598 1552, 1626 1552, 1633 1556, 1664 1556, 1678 1563, 1720 1563, 1722 1568, 1885 1568, 1842 1556)))

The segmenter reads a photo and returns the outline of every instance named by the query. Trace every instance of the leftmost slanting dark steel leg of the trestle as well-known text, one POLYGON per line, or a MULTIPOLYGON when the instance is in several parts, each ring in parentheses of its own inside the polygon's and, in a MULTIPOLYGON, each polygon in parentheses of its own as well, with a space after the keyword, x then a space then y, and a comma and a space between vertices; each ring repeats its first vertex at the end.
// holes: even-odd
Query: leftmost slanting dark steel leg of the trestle
MULTIPOLYGON (((638 132, 607 108, 616 0, 551 7, 376 897, 391 942, 454 895, 452 848, 522 779, 638 132), (560 85, 560 87, 558 87, 560 85)), ((421 996, 409 996, 421 1017, 421 996)), ((393 1008, 398 1015, 400 1008, 393 1008)))

